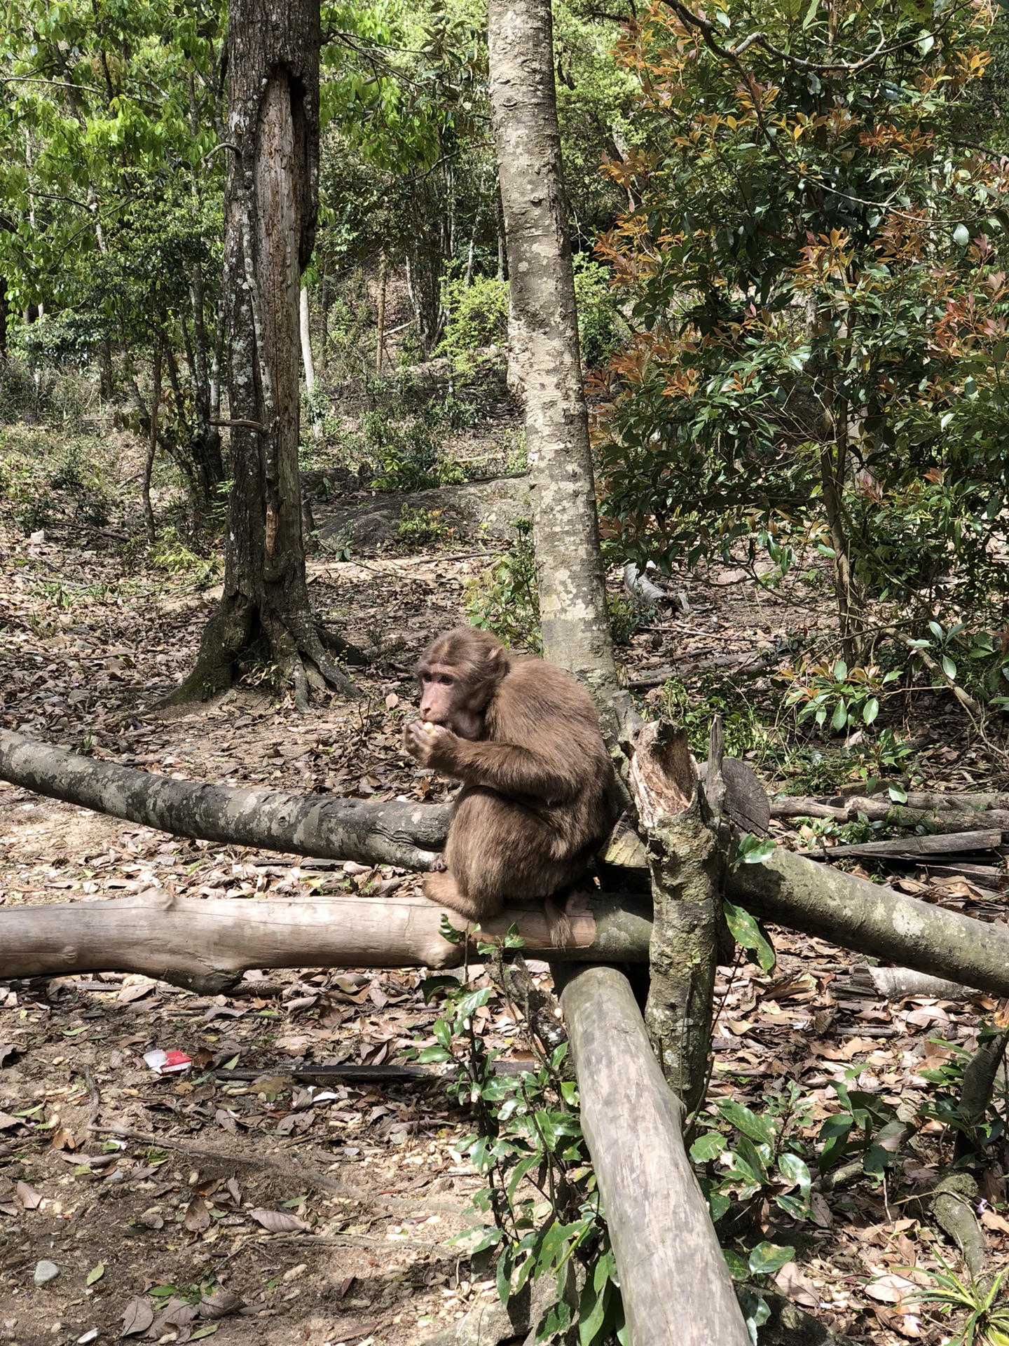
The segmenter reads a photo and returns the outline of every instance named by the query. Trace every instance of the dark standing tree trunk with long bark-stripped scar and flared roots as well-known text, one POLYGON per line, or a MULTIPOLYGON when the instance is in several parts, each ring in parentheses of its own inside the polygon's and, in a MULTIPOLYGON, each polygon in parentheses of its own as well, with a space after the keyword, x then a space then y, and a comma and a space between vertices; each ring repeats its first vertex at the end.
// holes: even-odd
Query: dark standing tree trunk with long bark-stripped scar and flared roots
POLYGON ((170 700, 229 686, 265 638, 299 709, 309 685, 351 692, 312 618, 301 537, 299 292, 319 192, 319 0, 231 0, 225 254, 234 486, 225 590, 196 666, 170 700))

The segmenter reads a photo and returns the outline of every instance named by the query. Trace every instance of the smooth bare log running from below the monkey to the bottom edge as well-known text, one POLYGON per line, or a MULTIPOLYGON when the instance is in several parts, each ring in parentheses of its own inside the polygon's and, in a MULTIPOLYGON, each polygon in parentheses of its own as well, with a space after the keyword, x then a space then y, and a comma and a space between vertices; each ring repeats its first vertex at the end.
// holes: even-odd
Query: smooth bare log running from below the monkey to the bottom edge
POLYGON ((634 1346, 749 1346, 708 1203, 627 979, 578 968, 561 993, 634 1346))

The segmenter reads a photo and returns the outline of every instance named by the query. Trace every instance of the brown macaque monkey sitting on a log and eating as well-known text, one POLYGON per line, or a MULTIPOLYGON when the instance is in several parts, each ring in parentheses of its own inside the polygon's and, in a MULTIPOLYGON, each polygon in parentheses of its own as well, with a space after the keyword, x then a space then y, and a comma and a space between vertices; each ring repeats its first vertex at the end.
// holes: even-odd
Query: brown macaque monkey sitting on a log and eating
POLYGON ((472 626, 432 641, 416 672, 421 719, 406 725, 406 751, 463 782, 445 868, 426 875, 425 895, 486 921, 580 879, 616 814, 588 692, 472 626))

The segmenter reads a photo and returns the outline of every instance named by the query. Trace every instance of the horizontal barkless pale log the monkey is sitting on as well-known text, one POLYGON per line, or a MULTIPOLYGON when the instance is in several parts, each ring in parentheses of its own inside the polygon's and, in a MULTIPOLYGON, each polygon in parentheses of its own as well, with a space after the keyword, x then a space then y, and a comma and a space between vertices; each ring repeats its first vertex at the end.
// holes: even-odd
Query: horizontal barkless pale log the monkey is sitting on
MULTIPOLYGON (((456 927, 460 917, 448 913, 456 927)), ((514 922, 531 956, 627 962, 647 957, 646 903, 576 896, 570 944, 554 949, 542 903, 510 907, 486 934, 514 922)), ((421 896, 316 902, 183 898, 151 890, 110 902, 0 909, 0 977, 143 972, 217 992, 246 968, 447 968, 463 944, 440 934, 441 910, 421 896)))

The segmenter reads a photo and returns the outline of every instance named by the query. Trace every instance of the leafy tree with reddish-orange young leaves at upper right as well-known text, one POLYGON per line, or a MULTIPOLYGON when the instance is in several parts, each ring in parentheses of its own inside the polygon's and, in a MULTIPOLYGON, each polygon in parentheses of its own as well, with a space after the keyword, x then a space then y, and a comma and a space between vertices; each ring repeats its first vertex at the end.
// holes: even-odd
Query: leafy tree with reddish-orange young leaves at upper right
POLYGON ((620 44, 640 147, 609 172, 640 205, 597 248, 635 328, 607 514, 661 565, 791 533, 852 561, 856 607, 946 603, 954 569, 1001 602, 1005 171, 959 122, 1005 16, 833 22, 732 0, 712 36, 655 7, 620 44))

